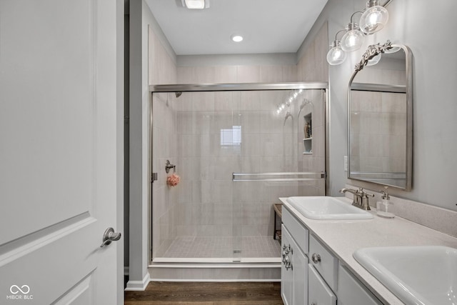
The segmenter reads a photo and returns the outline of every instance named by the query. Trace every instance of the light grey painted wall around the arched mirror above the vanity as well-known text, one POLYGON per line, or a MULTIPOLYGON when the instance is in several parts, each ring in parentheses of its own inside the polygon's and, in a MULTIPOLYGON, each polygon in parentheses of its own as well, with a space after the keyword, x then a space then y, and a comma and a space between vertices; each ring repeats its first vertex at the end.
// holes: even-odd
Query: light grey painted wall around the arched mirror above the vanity
MULTIPOLYGON (((312 41, 313 33, 328 21, 328 44, 349 22, 354 11, 363 9, 362 0, 331 0, 303 45, 312 41)), ((331 101, 331 195, 338 196, 348 180, 343 171, 347 154, 346 95, 353 66, 369 44, 385 42, 406 44, 413 53, 413 189, 391 189, 392 194, 426 204, 457 210, 457 199, 450 187, 457 171, 457 61, 453 39, 457 19, 453 12, 457 2, 448 0, 394 0, 387 6, 386 27, 368 36, 361 50, 348 54, 340 66, 329 66, 331 101)), ((341 34, 340 34, 341 35, 341 34)), ((338 36, 339 38, 339 36, 338 36)), ((352 184, 378 190, 376 184, 352 184)))

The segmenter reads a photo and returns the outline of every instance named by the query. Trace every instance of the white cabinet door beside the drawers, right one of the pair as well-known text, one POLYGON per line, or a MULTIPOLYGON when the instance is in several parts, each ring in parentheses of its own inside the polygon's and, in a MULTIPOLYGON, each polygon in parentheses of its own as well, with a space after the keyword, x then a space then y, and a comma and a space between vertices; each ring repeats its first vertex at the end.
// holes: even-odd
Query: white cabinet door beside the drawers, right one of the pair
POLYGON ((308 301, 308 257, 295 242, 292 246, 293 304, 304 305, 308 301))

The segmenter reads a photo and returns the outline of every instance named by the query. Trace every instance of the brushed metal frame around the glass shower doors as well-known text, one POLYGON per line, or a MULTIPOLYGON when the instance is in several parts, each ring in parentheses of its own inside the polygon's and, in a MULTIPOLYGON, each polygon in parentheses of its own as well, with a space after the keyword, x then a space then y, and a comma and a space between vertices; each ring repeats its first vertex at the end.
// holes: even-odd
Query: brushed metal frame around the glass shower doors
POLYGON ((330 131, 330 105, 328 103, 328 83, 322 81, 308 81, 308 82, 287 82, 287 83, 221 83, 221 84, 160 84, 160 85, 149 85, 149 261, 153 260, 153 229, 152 229, 152 184, 154 183, 154 173, 152 169, 153 159, 153 107, 152 103, 154 93, 177 93, 177 92, 204 92, 204 91, 278 91, 278 90, 297 90, 297 89, 317 89, 324 90, 324 120, 325 120, 325 171, 323 178, 325 180, 325 195, 330 194, 330 183, 328 181, 328 175, 326 174, 330 169, 328 151, 329 151, 329 131, 330 131))

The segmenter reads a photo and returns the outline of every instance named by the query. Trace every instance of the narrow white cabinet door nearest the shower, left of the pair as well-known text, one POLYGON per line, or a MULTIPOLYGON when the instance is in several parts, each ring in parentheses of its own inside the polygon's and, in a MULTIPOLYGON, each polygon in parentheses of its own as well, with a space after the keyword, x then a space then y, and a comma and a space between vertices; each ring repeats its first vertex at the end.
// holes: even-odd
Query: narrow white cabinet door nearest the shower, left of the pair
POLYGON ((281 298, 284 305, 292 305, 292 289, 293 289, 293 271, 291 268, 286 268, 286 257, 291 259, 291 253, 288 252, 291 246, 292 237, 288 233, 284 225, 281 226, 281 298))

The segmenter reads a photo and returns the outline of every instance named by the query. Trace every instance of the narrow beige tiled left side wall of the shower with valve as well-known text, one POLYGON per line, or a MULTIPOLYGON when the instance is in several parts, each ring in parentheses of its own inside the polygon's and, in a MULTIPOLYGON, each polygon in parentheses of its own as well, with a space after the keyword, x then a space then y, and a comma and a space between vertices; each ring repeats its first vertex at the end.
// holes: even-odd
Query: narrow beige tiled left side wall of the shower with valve
MULTIPOLYGON (((149 29, 149 84, 176 83, 176 64, 154 31, 149 29)), ((165 162, 176 163, 176 96, 154 94, 152 123, 152 169, 158 180, 152 184, 153 257, 164 254, 176 237, 177 190, 166 185, 165 162)), ((147 111, 145 110, 145 113, 147 111)))

